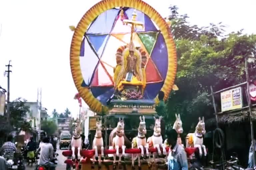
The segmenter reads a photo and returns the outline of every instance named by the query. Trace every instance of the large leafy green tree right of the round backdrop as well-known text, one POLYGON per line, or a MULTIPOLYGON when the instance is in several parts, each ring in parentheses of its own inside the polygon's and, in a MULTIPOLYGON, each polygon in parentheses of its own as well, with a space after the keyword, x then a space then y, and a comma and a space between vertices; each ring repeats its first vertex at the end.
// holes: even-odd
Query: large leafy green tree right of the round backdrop
MULTIPOLYGON (((225 35, 221 23, 199 28, 187 22, 187 15, 179 15, 171 6, 171 32, 177 48, 178 69, 166 114, 167 124, 175 121, 175 113, 181 114, 183 128, 188 132, 197 124, 199 116, 213 117, 210 86, 216 90, 245 81, 244 59, 256 55, 256 36, 243 35, 242 31, 225 35), (194 125, 191 125, 194 122, 194 125)), ((251 78, 256 78, 250 64, 251 78)))

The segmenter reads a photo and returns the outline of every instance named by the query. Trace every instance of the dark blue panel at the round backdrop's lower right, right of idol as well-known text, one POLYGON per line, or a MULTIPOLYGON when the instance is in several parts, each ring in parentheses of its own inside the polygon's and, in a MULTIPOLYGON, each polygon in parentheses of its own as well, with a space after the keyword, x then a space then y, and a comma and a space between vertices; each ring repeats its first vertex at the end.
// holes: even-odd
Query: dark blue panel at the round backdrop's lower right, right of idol
POLYGON ((145 99, 154 99, 163 87, 164 82, 147 84, 144 92, 145 99))

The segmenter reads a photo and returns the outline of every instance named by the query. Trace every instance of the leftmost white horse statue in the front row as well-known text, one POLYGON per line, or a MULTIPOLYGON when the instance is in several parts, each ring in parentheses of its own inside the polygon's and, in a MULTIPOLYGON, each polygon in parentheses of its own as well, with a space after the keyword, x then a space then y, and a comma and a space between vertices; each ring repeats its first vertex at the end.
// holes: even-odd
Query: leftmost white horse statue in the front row
POLYGON ((81 138, 81 126, 79 123, 74 122, 72 124, 73 128, 73 136, 71 140, 71 150, 72 150, 72 159, 74 160, 75 157, 75 148, 77 147, 77 159, 80 160, 81 155, 80 155, 80 150, 82 148, 82 138, 81 138))

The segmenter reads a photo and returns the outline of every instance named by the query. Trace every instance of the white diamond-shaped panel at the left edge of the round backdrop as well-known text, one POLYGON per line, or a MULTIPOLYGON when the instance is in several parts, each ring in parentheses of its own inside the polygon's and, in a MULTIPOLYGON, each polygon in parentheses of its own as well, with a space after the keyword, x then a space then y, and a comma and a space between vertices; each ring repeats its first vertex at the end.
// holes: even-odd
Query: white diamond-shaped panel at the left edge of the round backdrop
POLYGON ((95 54, 87 38, 84 39, 84 44, 81 48, 84 50, 84 56, 80 56, 80 68, 85 84, 88 86, 91 81, 94 69, 99 62, 99 58, 95 54))

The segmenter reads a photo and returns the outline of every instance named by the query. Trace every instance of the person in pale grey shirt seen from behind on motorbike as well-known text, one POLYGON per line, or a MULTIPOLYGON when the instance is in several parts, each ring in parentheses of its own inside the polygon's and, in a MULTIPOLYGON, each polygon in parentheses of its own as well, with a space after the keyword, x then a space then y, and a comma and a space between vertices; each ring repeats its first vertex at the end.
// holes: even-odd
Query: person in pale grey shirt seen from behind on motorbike
POLYGON ((39 161, 38 165, 45 165, 50 168, 50 170, 55 170, 54 163, 51 162, 53 159, 53 146, 50 142, 49 137, 44 137, 43 143, 41 143, 40 147, 36 151, 36 153, 39 153, 39 161))

